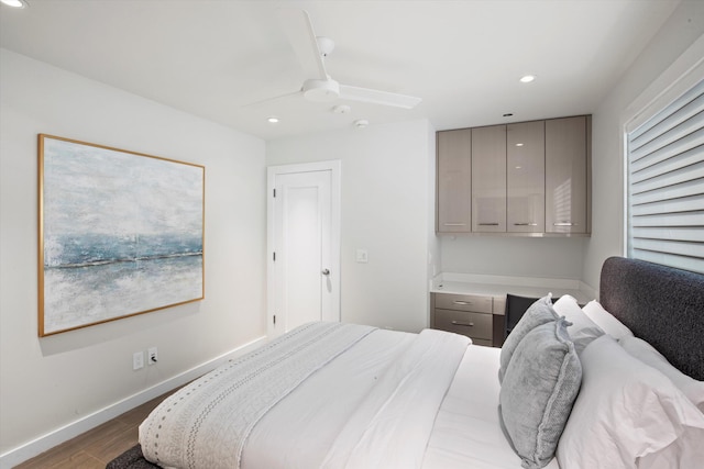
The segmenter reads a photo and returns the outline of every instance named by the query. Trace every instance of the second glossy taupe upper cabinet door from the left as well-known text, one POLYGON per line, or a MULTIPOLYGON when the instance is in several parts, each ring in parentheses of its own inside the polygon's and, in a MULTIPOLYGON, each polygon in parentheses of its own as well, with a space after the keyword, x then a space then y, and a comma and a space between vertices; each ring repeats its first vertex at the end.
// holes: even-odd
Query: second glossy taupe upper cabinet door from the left
POLYGON ((506 125, 472 129, 472 231, 506 232, 506 125))

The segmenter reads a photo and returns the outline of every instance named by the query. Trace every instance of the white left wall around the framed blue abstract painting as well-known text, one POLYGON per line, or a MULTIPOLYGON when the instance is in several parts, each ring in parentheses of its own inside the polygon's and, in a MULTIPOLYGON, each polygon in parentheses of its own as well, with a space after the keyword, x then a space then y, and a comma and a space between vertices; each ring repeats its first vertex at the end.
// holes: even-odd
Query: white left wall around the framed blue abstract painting
MULTIPOLYGON (((0 51, 0 454, 265 334, 264 142, 0 51), (206 300, 37 337, 37 133, 206 167, 206 300), (132 353, 160 362, 132 370, 132 353)), ((3 462, 4 464, 4 462, 3 462)))

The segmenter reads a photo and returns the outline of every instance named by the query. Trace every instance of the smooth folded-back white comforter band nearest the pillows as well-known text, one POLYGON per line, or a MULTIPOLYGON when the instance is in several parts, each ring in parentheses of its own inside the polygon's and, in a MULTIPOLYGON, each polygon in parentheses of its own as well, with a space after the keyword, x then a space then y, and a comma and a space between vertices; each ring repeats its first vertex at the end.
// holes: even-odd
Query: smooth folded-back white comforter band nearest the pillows
POLYGON ((322 467, 420 468, 436 415, 469 344, 461 335, 422 331, 361 402, 322 467))

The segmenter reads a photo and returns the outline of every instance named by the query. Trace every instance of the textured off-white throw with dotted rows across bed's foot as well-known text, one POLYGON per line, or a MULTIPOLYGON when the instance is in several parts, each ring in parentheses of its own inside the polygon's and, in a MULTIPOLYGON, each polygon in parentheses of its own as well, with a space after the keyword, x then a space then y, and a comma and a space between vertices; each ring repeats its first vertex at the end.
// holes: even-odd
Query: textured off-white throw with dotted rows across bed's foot
POLYGON ((162 467, 238 468, 260 418, 374 327, 310 323, 206 375, 140 425, 144 457, 162 467))

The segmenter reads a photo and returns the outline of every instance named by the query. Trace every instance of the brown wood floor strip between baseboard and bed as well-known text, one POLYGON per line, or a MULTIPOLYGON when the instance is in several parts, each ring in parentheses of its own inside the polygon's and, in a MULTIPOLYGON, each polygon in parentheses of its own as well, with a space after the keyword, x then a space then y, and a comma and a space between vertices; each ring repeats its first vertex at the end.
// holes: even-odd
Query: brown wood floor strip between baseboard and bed
POLYGON ((173 392, 42 453, 15 469, 105 469, 108 462, 136 445, 142 421, 173 392))

